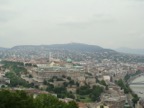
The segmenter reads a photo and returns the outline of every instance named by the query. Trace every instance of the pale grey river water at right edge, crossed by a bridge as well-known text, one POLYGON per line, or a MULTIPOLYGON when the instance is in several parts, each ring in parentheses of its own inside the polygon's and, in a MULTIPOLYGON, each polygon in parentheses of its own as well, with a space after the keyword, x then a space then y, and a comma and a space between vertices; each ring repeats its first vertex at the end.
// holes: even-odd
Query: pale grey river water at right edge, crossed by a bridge
POLYGON ((132 81, 132 83, 142 82, 143 84, 130 85, 130 88, 139 96, 144 98, 144 76, 140 76, 132 81))

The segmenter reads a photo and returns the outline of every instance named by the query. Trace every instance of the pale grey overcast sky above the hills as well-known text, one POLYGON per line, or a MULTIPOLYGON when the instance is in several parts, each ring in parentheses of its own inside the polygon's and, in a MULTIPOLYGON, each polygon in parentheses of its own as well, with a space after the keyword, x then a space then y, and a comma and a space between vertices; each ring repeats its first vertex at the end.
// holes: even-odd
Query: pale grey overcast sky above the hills
POLYGON ((144 48, 144 0, 0 0, 0 47, 144 48))

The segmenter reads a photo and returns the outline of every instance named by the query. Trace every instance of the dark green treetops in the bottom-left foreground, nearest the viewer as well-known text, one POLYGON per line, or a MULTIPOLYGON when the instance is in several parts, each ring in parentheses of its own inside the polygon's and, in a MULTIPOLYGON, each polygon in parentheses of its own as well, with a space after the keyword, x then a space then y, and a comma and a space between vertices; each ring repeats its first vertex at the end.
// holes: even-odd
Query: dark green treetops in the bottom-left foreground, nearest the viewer
POLYGON ((41 94, 36 98, 24 91, 0 91, 0 108, 78 108, 74 102, 64 103, 52 95, 41 94))

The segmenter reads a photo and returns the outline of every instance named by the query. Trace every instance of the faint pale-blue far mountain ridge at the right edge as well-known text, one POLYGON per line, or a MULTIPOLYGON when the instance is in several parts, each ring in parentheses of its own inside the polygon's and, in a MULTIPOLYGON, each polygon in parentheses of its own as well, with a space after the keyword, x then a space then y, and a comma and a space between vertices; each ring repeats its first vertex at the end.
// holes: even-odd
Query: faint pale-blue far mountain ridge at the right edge
POLYGON ((144 49, 118 48, 116 51, 128 54, 144 55, 144 49))

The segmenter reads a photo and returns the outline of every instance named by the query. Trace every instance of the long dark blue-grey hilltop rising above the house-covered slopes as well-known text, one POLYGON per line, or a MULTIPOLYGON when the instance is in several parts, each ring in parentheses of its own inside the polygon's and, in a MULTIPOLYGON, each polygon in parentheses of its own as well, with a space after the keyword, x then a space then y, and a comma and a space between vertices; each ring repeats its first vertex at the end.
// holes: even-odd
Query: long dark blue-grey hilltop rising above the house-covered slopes
POLYGON ((73 50, 73 51, 89 51, 89 52, 115 52, 111 49, 104 49, 97 45, 88 45, 82 43, 69 43, 69 44, 52 44, 52 45, 20 45, 11 48, 12 50, 22 49, 56 49, 56 50, 73 50))

